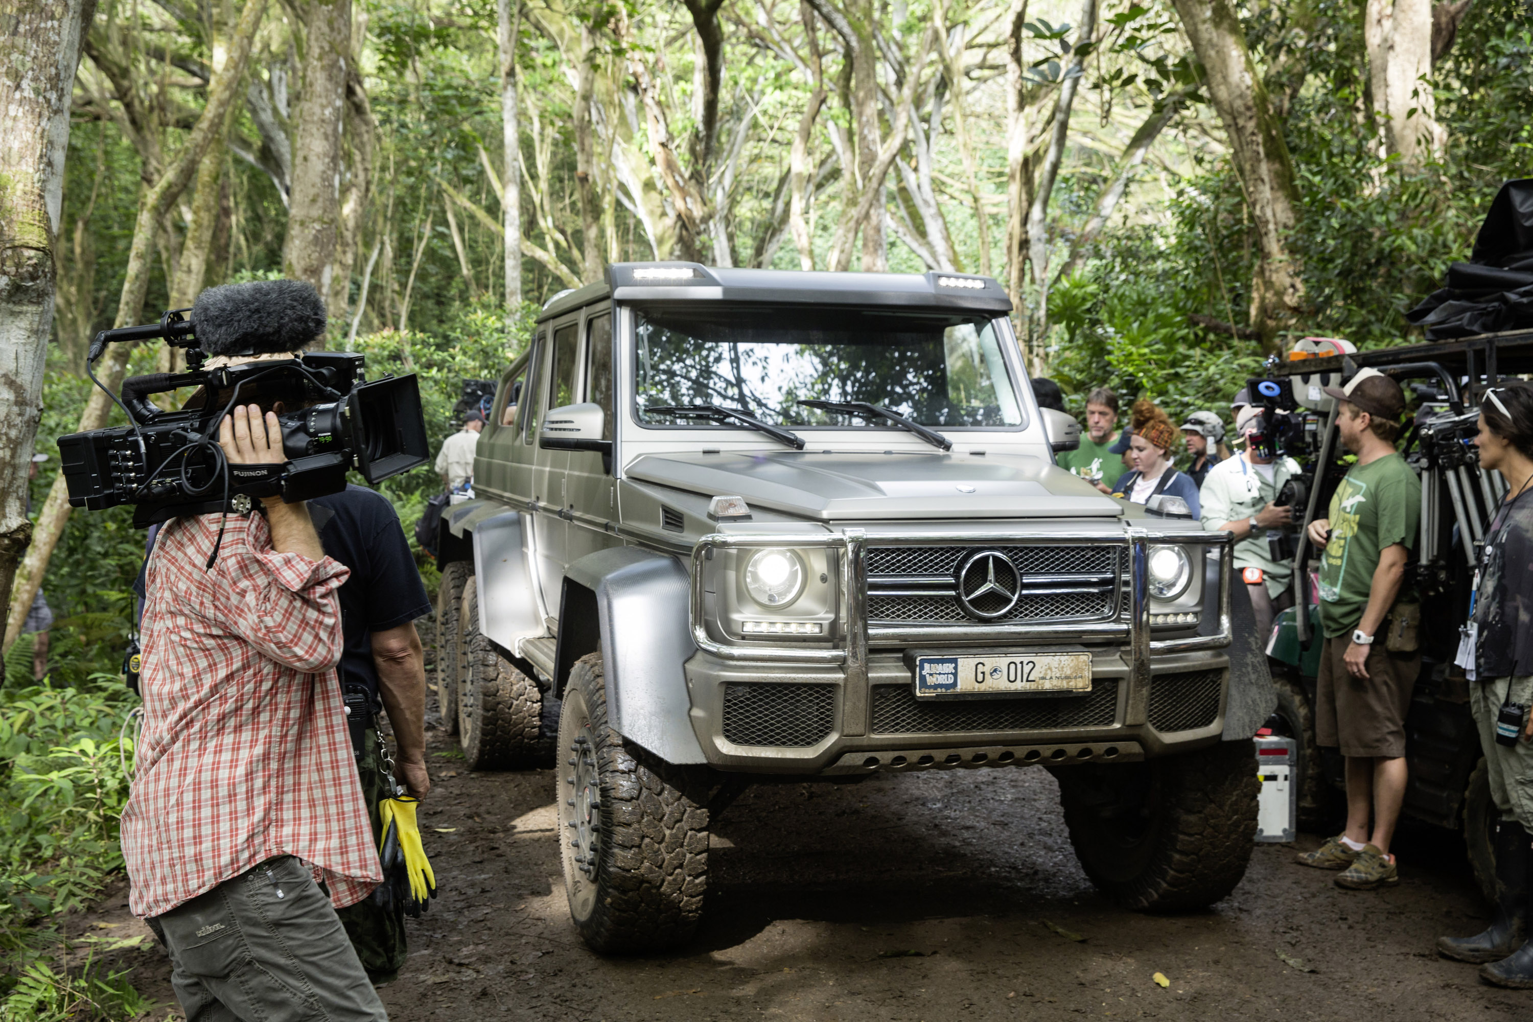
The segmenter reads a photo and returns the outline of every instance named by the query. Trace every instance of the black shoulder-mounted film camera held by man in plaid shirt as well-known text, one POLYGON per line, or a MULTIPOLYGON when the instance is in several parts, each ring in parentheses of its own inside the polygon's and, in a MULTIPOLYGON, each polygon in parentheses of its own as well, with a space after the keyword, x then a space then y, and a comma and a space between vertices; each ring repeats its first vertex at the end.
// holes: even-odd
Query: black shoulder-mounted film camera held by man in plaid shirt
MULTIPOLYGON (((313 351, 291 359, 204 369, 192 310, 166 313, 158 323, 106 329, 86 360, 92 366, 110 343, 164 340, 185 349, 187 372, 155 372, 123 382, 107 395, 129 424, 58 438, 74 507, 101 510, 133 504, 133 526, 178 515, 242 513, 253 496, 302 501, 346 487, 356 467, 368 483, 426 461, 426 423, 415 375, 363 377, 363 357, 313 351), (166 411, 150 397, 198 388, 187 405, 166 411), (282 401, 282 464, 231 466, 218 446, 219 423, 241 405, 282 401)), ((231 354, 251 354, 250 351, 231 354)), ((106 389, 103 386, 103 389, 106 389)))

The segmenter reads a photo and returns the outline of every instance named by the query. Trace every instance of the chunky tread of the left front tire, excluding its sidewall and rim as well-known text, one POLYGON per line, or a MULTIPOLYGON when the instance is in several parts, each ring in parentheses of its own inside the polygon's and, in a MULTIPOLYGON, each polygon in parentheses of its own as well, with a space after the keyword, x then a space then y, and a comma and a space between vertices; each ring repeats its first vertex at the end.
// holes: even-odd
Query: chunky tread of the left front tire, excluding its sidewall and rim
POLYGON ((711 771, 675 766, 624 746, 607 726, 599 653, 576 660, 569 683, 586 699, 601 778, 596 904, 579 924, 581 936, 604 953, 684 944, 698 929, 708 889, 711 771))

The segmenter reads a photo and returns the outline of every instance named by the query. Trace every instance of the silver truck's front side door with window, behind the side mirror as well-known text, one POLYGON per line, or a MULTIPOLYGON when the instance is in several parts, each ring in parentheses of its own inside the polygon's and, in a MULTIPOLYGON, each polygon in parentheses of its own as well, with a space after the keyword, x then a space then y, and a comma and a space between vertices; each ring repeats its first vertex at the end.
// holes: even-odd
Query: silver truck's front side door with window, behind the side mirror
MULTIPOLYGON (((579 355, 579 398, 599 405, 604 412, 602 440, 616 435, 613 421, 612 311, 590 310, 586 316, 584 345, 579 355)), ((607 461, 595 450, 569 452, 567 561, 618 545, 612 526, 618 518, 616 487, 607 461)))

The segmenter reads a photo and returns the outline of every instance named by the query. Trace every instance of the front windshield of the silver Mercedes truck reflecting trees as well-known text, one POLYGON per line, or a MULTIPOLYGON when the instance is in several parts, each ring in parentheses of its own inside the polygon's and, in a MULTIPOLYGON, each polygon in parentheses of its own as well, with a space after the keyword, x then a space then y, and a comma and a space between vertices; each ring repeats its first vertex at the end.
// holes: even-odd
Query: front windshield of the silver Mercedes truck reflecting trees
POLYGON ((1023 409, 986 319, 783 308, 636 310, 639 421, 676 405, 737 408, 776 426, 883 427, 800 400, 866 401, 923 426, 1007 427, 1023 409))

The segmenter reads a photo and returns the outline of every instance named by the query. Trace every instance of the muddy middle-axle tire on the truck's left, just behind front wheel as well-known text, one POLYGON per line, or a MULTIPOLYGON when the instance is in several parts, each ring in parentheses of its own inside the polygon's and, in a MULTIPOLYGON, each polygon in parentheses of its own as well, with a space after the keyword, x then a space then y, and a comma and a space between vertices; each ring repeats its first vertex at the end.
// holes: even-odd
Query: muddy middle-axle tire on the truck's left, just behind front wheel
POLYGON ((547 758, 538 740, 543 696, 537 682, 506 663, 478 630, 478 582, 463 587, 458 671, 458 745, 471 771, 530 766, 547 758))

